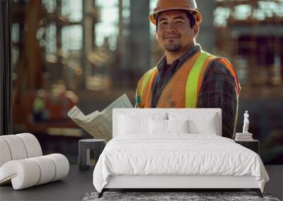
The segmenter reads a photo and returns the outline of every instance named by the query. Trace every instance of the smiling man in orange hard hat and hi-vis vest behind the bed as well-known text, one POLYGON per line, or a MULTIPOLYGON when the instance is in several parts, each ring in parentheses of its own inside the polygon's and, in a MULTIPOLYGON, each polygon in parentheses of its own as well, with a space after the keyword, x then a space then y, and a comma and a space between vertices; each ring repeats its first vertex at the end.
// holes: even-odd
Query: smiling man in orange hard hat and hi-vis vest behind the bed
POLYGON ((139 80, 136 108, 221 108, 222 136, 233 138, 241 86, 227 59, 196 43, 202 15, 194 0, 158 0, 149 15, 165 56, 139 80))

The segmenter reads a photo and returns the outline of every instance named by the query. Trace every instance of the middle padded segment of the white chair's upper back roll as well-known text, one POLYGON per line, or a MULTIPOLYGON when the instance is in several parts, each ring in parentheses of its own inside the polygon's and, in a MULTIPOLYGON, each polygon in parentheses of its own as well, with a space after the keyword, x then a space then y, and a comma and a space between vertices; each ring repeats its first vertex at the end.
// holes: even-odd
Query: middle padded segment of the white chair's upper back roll
POLYGON ((1 138, 7 142, 12 160, 26 159, 28 157, 25 145, 20 137, 17 135, 2 135, 1 138))

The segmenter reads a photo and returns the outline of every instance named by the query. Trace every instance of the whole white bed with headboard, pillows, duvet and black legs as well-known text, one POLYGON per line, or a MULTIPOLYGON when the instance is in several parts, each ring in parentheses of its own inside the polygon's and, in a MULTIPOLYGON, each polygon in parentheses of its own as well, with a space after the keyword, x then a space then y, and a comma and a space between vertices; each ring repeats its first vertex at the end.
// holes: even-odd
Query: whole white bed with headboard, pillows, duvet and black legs
POLYGON ((110 188, 250 188, 262 196, 269 180, 258 154, 221 137, 221 109, 114 109, 112 130, 93 171, 99 197, 110 188), (166 133, 154 128, 159 122, 166 133))

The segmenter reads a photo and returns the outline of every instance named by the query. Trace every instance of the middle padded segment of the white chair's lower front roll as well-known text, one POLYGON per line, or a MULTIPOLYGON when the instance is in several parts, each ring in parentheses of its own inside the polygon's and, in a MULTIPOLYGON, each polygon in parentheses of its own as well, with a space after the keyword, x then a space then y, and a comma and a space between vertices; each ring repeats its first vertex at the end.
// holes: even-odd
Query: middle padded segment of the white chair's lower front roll
POLYGON ((55 164, 50 157, 34 157, 30 158, 37 162, 40 166, 40 180, 36 183, 36 185, 40 185, 42 183, 47 183, 53 180, 55 176, 55 164))

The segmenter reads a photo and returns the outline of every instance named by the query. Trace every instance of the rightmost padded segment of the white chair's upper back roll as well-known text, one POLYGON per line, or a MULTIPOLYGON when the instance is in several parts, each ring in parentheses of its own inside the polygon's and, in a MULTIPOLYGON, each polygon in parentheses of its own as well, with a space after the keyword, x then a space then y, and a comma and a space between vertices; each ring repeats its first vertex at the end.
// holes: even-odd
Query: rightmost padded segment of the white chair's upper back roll
POLYGON ((21 133, 17 134, 16 136, 20 137, 23 140, 28 158, 42 156, 40 142, 38 142, 38 140, 35 138, 35 135, 30 133, 21 133))

